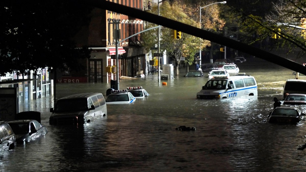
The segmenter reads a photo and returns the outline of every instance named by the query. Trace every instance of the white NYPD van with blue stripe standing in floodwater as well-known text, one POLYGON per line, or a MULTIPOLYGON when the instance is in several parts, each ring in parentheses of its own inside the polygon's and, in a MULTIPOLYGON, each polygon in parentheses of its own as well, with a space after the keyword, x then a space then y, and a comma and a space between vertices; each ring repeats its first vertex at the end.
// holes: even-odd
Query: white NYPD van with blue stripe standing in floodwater
POLYGON ((224 99, 249 95, 257 96, 256 80, 245 73, 238 73, 232 77, 215 77, 208 80, 196 94, 196 98, 224 99))

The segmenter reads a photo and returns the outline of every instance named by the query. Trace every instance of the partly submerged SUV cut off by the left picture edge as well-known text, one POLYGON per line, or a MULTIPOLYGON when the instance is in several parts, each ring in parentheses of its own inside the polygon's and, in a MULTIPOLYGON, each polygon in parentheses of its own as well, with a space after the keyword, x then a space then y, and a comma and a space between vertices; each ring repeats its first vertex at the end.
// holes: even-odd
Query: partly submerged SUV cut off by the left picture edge
POLYGON ((16 136, 6 122, 0 122, 0 151, 12 150, 16 146, 16 136))

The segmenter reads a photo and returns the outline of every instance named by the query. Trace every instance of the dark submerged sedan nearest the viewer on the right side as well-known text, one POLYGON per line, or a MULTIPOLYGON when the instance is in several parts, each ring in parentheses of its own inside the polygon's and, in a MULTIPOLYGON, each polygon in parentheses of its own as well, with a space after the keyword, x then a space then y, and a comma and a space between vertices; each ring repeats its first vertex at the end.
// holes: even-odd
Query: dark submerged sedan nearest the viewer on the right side
POLYGON ((269 117, 270 123, 296 124, 304 119, 305 114, 297 107, 276 107, 269 117))

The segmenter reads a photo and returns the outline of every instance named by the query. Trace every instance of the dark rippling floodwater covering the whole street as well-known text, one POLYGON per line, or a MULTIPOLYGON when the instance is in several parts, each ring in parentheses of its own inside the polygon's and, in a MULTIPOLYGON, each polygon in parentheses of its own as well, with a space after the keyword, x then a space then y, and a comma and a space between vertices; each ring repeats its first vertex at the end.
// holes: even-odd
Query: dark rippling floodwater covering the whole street
MULTIPOLYGON (((267 122, 273 97, 282 99, 292 70, 247 58, 240 72, 256 78, 258 96, 196 99, 207 77, 168 80, 157 73, 120 80, 120 89, 143 86, 150 94, 132 104, 107 105, 106 117, 79 126, 49 125, 53 97, 20 111, 41 112, 44 137, 0 156, 1 171, 305 171, 306 126, 267 122), (185 125, 196 131, 178 131, 185 125)), ((190 69, 190 68, 189 68, 190 69)), ((193 67, 192 67, 193 69, 193 67)), ((110 84, 57 84, 57 98, 81 92, 106 94, 110 84)), ((106 98, 106 95, 105 95, 106 98)), ((300 107, 305 113, 306 108, 300 107)))

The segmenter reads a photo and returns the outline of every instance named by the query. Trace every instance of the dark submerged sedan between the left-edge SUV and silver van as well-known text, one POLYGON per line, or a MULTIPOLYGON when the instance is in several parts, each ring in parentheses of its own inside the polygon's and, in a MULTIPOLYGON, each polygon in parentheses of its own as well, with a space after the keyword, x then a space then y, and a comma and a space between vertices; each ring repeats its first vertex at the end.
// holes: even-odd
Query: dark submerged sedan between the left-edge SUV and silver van
POLYGON ((48 133, 45 126, 36 120, 13 120, 7 122, 16 135, 17 143, 24 143, 34 140, 48 133))

